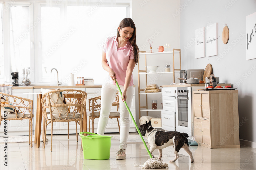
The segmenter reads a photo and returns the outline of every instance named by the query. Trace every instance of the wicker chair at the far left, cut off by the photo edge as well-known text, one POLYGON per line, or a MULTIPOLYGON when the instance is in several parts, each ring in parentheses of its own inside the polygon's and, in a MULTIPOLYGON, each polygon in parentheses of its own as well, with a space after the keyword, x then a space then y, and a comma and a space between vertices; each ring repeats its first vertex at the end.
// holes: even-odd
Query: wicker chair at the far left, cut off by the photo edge
POLYGON ((33 100, 13 96, 5 93, 0 93, 0 125, 4 120, 29 120, 29 141, 28 144, 32 147, 32 132, 33 132, 33 123, 32 119, 34 117, 33 114, 33 100), (5 102, 3 100, 6 100, 5 102), (2 107, 5 107, 4 110, 1 110, 2 107), (7 119, 5 119, 5 110, 8 108, 10 110, 14 110, 13 113, 7 114, 7 119))

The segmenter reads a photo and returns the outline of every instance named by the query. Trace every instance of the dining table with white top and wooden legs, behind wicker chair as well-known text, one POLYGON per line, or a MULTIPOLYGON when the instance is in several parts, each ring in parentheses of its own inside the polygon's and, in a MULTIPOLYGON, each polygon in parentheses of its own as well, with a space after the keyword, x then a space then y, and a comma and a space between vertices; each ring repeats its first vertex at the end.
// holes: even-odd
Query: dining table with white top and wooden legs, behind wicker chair
MULTIPOLYGON (((97 92, 86 92, 86 93, 87 94, 95 94, 97 92)), ((41 99, 42 99, 43 93, 42 92, 24 92, 23 94, 37 94, 36 127, 35 127, 35 142, 34 143, 36 144, 36 147, 39 148, 40 147, 40 137, 41 137, 41 126, 42 126, 42 112, 43 112, 41 99)), ((77 95, 76 98, 79 98, 79 95, 77 95)), ((86 112, 84 112, 83 117, 84 117, 84 119, 83 119, 83 132, 87 132, 87 115, 86 115, 86 112)))

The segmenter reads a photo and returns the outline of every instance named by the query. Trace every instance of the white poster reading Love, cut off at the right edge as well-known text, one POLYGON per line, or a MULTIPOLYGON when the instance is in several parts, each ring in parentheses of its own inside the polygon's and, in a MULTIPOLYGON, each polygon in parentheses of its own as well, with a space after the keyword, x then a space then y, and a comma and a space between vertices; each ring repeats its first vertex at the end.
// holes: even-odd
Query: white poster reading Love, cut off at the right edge
POLYGON ((246 60, 256 58, 256 12, 246 16, 246 60))

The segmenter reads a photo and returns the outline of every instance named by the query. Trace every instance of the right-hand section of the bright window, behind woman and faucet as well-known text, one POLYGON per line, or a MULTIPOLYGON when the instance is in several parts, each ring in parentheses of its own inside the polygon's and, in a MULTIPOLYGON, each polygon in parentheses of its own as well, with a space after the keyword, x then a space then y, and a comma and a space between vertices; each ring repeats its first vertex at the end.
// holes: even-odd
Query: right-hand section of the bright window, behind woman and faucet
POLYGON ((64 17, 60 8, 41 8, 42 81, 49 81, 47 73, 56 68, 64 85, 68 85, 71 72, 75 77, 97 77, 94 82, 103 83, 102 46, 106 38, 117 34, 119 23, 127 17, 127 7, 90 10, 91 6, 67 6, 66 21, 60 23, 64 17))

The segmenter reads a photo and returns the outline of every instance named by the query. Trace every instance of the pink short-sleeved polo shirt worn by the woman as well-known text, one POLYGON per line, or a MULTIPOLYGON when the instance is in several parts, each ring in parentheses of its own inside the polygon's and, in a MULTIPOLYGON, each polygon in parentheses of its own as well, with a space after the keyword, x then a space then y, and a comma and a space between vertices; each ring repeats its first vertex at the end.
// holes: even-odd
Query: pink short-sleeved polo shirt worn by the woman
MULTIPOLYGON (((117 48, 117 36, 109 37, 107 42, 103 45, 103 51, 106 53, 106 58, 109 67, 115 72, 116 80, 119 85, 124 86, 126 70, 130 59, 134 59, 133 46, 128 41, 126 46, 117 48)), ((110 77, 108 82, 115 84, 110 77)), ((129 86, 133 85, 133 75, 129 86)))

